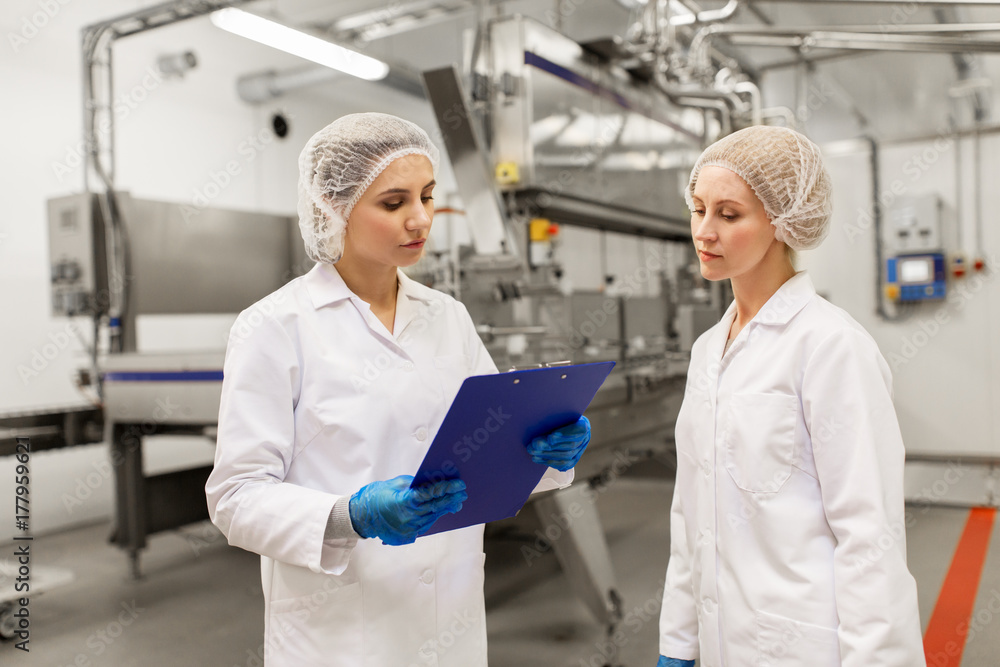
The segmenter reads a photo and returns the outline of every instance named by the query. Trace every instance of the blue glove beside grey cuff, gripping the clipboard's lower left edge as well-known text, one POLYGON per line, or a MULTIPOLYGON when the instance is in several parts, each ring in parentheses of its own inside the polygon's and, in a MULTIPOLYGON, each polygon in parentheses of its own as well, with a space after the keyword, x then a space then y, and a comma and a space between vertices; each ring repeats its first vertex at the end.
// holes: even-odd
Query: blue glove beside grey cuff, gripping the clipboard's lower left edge
POLYGON ((435 521, 462 509, 465 482, 450 479, 410 488, 411 475, 372 482, 351 496, 351 524, 361 537, 378 537, 392 546, 412 544, 435 521))

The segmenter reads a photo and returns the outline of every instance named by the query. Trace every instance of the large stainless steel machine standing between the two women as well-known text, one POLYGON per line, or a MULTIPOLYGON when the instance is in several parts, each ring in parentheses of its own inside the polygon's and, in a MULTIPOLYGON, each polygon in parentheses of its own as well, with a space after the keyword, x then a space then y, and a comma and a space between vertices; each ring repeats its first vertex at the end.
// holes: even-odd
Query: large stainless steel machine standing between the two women
POLYGON ((714 322, 694 309, 718 316, 708 292, 694 289, 682 198, 705 118, 539 23, 510 17, 485 30, 479 70, 424 73, 474 246, 458 254, 458 267, 425 271, 461 276, 450 287, 501 369, 617 362, 587 411, 593 440, 577 483, 534 502, 545 534, 559 533, 571 510, 580 515, 551 547, 610 632, 621 596, 588 491, 620 474, 622 461, 673 460, 682 339, 689 348, 700 333, 679 335, 677 326, 714 322), (560 241, 560 229, 577 228, 597 232, 585 258, 560 241), (624 271, 602 272, 596 288, 566 289, 573 263, 607 263, 609 236, 647 251, 624 271))

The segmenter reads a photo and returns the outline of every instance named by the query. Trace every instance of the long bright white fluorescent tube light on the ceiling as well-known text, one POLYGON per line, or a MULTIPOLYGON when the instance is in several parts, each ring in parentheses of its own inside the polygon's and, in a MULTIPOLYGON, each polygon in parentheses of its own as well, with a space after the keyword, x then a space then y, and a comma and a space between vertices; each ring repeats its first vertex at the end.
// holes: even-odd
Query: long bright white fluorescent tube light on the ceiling
POLYGON ((289 28, 288 26, 250 14, 241 9, 227 7, 212 12, 212 23, 234 35, 252 39, 271 48, 311 60, 345 74, 378 81, 389 73, 389 66, 381 60, 362 55, 322 40, 319 37, 289 28))

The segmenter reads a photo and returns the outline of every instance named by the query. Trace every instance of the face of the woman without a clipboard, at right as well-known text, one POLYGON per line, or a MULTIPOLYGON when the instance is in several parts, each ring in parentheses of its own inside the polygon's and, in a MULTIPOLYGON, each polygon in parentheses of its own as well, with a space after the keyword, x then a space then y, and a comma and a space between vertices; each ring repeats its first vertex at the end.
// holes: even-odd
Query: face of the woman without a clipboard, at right
POLYGON ((746 182, 723 167, 705 167, 695 183, 691 236, 701 275, 735 278, 783 252, 764 205, 746 182))

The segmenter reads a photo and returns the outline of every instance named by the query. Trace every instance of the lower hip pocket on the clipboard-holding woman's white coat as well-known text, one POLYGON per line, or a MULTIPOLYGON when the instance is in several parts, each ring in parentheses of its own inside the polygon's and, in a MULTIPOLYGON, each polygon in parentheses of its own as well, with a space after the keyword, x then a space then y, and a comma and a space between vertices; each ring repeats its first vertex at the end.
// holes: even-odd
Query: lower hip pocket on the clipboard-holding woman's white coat
MULTIPOLYGON (((304 570, 298 574, 305 576, 292 577, 299 581, 283 592, 293 588, 309 592, 268 603, 267 666, 360 664, 364 637, 361 582, 343 584, 339 577, 295 569, 304 570), (305 583, 303 579, 309 579, 305 588, 298 585, 305 583)), ((276 588, 272 586, 272 593, 276 588)))

